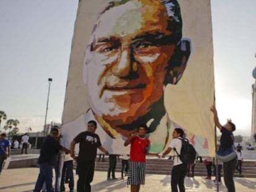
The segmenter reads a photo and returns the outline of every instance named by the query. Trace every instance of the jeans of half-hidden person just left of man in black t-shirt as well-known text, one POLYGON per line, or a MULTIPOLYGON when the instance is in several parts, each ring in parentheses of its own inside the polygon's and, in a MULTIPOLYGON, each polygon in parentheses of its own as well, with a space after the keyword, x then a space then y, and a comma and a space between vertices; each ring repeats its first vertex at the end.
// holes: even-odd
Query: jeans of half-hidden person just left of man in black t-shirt
POLYGON ((65 180, 69 178, 69 189, 74 190, 74 173, 73 173, 73 161, 65 161, 62 174, 61 174, 61 191, 65 191, 65 180))

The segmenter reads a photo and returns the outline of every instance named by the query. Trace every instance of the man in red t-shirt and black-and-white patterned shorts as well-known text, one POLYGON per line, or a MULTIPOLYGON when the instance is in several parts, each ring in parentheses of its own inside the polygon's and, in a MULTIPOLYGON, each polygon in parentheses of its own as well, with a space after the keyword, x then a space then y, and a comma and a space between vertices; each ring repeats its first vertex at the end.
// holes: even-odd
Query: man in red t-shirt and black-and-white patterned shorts
POLYGON ((130 143, 130 166, 127 185, 131 185, 131 192, 139 192, 140 185, 145 184, 146 154, 156 155, 149 154, 147 151, 150 146, 150 140, 146 138, 147 130, 147 125, 140 125, 139 133, 129 136, 124 142, 124 146, 130 143))

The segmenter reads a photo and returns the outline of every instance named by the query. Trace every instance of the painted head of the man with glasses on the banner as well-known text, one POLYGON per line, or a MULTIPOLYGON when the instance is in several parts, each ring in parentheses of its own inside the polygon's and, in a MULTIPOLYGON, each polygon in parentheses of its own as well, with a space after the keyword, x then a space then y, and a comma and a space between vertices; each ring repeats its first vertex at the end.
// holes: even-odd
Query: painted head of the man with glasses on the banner
POLYGON ((84 75, 89 105, 103 128, 127 135, 136 123, 163 116, 164 86, 179 81, 190 54, 181 30, 177 1, 115 1, 99 14, 84 75))

